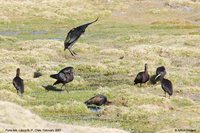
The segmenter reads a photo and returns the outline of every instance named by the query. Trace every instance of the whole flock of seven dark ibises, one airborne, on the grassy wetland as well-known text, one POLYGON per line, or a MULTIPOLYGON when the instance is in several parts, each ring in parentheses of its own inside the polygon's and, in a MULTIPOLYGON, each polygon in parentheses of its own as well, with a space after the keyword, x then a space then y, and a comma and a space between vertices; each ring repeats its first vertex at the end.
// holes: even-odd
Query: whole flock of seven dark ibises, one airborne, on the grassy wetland
MULTIPOLYGON (((86 28, 91 25, 92 23, 96 22, 98 20, 98 18, 92 22, 83 24, 81 26, 78 26, 76 28, 71 29, 68 34, 67 37, 64 41, 64 50, 69 50, 69 52, 71 53, 72 56, 77 55, 73 50, 71 50, 72 46, 74 45, 74 43, 79 39, 79 37, 85 32, 86 28)), ((170 96, 173 94, 173 86, 172 86, 172 82, 166 78, 164 78, 164 76, 166 75, 166 69, 164 66, 160 66, 156 69, 156 75, 153 76, 153 80, 155 81, 154 83, 156 83, 157 81, 160 81, 161 83, 161 87, 165 93, 165 97, 166 97, 166 93, 168 93, 169 98, 170 96)), ((38 76, 41 76, 40 74, 38 76)), ((36 76, 37 77, 37 76, 36 76)), ((73 67, 65 67, 64 69, 60 70, 60 72, 58 72, 57 74, 52 74, 50 75, 51 78, 56 79, 56 82, 53 84, 57 85, 57 84, 62 84, 62 87, 65 86, 65 84, 73 81, 74 79, 74 68, 73 67)), ((147 81, 151 80, 152 77, 149 76, 148 74, 148 65, 145 64, 145 69, 142 72, 139 72, 134 80, 134 85, 135 84, 143 84, 146 83, 147 81)), ((16 71, 16 76, 13 79, 13 85, 17 90, 17 93, 20 93, 20 96, 23 96, 24 93, 24 83, 23 83, 23 79, 20 78, 20 69, 17 68, 16 71)), ((45 87, 45 86, 43 86, 45 87)), ((61 87, 61 89, 62 89, 61 87)), ((66 88, 65 88, 66 89, 66 88)), ((101 105, 108 105, 111 103, 111 101, 107 100, 107 97, 104 95, 96 95, 92 98, 90 98, 89 100, 84 102, 87 106, 89 105, 97 105, 97 106, 101 106, 101 105)))

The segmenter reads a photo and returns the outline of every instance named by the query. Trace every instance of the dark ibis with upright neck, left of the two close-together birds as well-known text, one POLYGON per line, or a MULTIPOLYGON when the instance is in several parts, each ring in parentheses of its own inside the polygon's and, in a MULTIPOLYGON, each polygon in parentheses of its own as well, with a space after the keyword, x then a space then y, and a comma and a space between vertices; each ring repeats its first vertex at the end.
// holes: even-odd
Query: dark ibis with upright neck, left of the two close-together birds
POLYGON ((146 83, 149 80, 149 74, 148 74, 148 65, 145 64, 144 71, 139 72, 134 80, 134 85, 140 83, 140 86, 142 83, 146 83))

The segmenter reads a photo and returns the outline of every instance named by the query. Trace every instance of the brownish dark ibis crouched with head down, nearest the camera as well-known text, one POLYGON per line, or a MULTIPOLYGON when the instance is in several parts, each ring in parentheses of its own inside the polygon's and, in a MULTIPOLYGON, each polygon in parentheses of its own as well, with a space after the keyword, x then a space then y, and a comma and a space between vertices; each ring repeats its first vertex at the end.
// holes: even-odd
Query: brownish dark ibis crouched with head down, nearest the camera
POLYGON ((92 98, 90 98, 89 100, 84 102, 87 106, 88 105, 97 105, 97 106, 101 106, 101 105, 108 105, 111 102, 107 100, 107 97, 104 95, 96 95, 92 98))

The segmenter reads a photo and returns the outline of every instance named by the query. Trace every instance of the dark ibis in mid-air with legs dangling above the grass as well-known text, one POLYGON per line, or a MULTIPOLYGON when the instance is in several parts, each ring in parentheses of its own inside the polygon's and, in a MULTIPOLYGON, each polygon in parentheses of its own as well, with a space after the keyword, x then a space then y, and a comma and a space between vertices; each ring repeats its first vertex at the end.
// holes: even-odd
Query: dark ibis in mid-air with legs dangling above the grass
POLYGON ((86 23, 83 24, 81 26, 78 26, 76 28, 71 29, 68 34, 67 37, 65 39, 64 42, 64 50, 68 49, 69 52, 71 53, 72 56, 76 55, 76 53, 74 51, 71 50, 71 47, 74 45, 74 43, 79 39, 79 37, 85 32, 86 28, 96 22, 99 18, 97 18, 96 20, 90 22, 90 23, 86 23))

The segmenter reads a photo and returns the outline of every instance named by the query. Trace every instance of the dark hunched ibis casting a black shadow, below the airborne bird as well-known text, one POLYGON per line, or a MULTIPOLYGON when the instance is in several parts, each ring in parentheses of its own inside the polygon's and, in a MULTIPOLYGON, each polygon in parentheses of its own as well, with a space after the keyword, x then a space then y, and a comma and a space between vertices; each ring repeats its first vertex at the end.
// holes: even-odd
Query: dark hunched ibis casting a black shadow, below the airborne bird
MULTIPOLYGON (((57 79, 57 81, 53 84, 57 85, 62 83, 62 87, 65 86, 66 83, 73 81, 74 79, 74 68, 73 67, 66 67, 62 69, 58 74, 52 74, 50 77, 57 79)), ((61 87, 61 89, 62 89, 61 87)), ((65 87, 66 89, 66 87, 65 87)))

